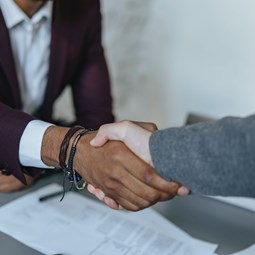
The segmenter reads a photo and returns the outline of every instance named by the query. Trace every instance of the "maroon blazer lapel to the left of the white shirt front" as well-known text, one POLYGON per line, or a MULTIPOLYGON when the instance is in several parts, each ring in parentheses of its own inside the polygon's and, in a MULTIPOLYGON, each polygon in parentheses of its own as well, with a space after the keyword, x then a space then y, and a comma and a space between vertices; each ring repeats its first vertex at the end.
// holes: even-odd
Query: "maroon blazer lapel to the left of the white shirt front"
POLYGON ((12 90, 15 108, 21 108, 19 84, 12 54, 9 31, 0 10, 0 66, 3 69, 12 90))

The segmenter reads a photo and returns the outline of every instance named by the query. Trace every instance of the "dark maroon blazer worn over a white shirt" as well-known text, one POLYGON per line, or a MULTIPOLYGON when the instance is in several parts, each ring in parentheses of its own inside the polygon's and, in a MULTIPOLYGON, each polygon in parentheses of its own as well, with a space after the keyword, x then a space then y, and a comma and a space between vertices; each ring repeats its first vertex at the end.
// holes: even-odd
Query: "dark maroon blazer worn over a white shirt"
MULTIPOLYGON (((53 122, 57 97, 71 85, 76 123, 98 128, 112 122, 112 98, 101 44, 99 0, 54 1, 48 84, 40 119, 53 122)), ((21 111, 19 84, 10 38, 0 10, 0 169, 25 182, 19 141, 34 117, 21 111)))

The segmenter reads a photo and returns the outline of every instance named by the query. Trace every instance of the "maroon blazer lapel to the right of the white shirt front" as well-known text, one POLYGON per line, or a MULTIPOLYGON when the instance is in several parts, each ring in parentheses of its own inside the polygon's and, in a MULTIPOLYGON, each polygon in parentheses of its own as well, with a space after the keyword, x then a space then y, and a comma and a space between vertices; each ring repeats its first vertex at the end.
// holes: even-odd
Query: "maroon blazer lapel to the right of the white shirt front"
MULTIPOLYGON (((60 2, 54 1, 53 7, 49 75, 42 107, 44 116, 50 114, 51 105, 47 104, 47 102, 54 101, 59 87, 64 82, 64 74, 67 67, 70 23, 67 21, 68 7, 63 11, 63 8, 60 7, 60 2)), ((71 1, 68 1, 68 3, 71 3, 71 1)))

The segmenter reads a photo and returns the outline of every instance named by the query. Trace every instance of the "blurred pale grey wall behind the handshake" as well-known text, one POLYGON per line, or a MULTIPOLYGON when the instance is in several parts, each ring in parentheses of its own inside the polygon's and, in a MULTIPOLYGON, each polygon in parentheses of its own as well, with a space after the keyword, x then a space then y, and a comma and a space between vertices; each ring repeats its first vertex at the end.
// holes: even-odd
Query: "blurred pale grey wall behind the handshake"
POLYGON ((190 112, 255 113, 254 0, 101 5, 117 120, 164 128, 183 125, 190 112))

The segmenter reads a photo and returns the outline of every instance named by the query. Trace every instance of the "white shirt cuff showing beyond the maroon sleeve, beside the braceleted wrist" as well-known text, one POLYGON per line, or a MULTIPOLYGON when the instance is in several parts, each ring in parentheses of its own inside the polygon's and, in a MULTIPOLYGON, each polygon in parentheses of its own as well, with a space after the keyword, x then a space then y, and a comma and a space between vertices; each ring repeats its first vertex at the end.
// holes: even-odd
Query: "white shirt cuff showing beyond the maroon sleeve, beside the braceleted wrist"
POLYGON ((53 124, 41 120, 32 120, 26 126, 19 144, 21 165, 38 168, 53 168, 43 163, 41 147, 46 129, 53 124))

